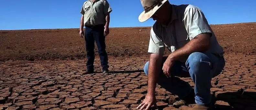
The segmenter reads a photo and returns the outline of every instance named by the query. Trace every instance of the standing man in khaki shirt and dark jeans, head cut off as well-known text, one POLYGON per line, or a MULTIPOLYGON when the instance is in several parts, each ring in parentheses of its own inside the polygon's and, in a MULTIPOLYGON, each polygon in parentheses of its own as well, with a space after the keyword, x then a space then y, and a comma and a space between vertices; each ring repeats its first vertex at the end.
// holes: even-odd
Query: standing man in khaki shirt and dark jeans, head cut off
POLYGON ((88 0, 81 9, 80 37, 85 36, 87 52, 87 70, 83 74, 91 74, 94 70, 94 41, 96 41, 103 74, 109 74, 108 55, 105 37, 109 34, 109 21, 112 9, 107 0, 88 0), (83 27, 85 26, 85 33, 83 27))

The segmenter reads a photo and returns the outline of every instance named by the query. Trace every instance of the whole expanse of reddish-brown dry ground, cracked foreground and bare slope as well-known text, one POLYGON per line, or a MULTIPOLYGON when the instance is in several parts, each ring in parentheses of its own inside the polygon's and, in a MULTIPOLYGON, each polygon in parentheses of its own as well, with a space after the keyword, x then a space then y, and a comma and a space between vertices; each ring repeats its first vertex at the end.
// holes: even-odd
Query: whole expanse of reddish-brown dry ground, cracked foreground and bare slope
MULTIPOLYGON (((226 60, 211 81, 216 109, 256 109, 256 23, 211 27, 226 60)), ((110 31, 106 44, 113 74, 105 76, 97 53, 95 73, 81 75, 86 53, 78 29, 0 31, 0 110, 135 109, 147 93, 143 67, 150 27, 110 31)), ((194 86, 191 78, 181 79, 194 86)), ((176 95, 161 86, 155 94, 159 109, 175 110, 176 95)))

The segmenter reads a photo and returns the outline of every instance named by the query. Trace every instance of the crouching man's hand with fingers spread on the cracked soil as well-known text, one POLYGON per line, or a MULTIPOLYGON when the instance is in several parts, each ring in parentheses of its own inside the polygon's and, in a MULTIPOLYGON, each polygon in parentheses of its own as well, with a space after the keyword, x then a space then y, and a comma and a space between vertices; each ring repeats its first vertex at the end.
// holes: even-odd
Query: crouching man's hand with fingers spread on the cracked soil
POLYGON ((145 99, 143 100, 143 102, 136 108, 136 109, 140 109, 143 110, 144 108, 146 108, 145 110, 149 110, 149 108, 154 105, 156 106, 156 99, 155 99, 155 95, 150 95, 147 94, 145 99))

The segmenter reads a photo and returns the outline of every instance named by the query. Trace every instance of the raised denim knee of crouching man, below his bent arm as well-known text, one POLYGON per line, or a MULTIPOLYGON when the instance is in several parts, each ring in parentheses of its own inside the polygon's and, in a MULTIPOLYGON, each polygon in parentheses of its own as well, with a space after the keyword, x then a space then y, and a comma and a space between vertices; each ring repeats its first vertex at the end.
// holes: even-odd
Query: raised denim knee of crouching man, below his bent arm
POLYGON ((205 65, 205 64, 211 66, 208 56, 201 52, 191 53, 188 56, 188 59, 186 61, 187 68, 189 68, 189 67, 190 68, 193 68, 193 67, 199 68, 200 65, 205 65))

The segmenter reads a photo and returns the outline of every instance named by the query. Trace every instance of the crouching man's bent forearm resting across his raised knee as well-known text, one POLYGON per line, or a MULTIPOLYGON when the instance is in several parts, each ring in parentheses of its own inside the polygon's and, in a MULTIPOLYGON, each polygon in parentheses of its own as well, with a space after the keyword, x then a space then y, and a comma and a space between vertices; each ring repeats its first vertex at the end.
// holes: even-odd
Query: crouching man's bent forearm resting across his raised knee
POLYGON ((210 48, 210 36, 208 33, 199 34, 182 48, 172 52, 169 57, 173 60, 185 60, 193 52, 206 51, 210 48))

